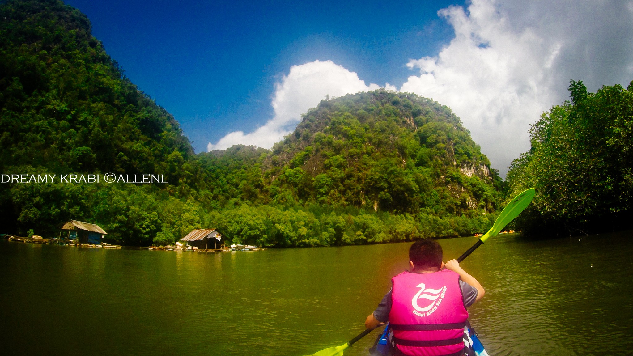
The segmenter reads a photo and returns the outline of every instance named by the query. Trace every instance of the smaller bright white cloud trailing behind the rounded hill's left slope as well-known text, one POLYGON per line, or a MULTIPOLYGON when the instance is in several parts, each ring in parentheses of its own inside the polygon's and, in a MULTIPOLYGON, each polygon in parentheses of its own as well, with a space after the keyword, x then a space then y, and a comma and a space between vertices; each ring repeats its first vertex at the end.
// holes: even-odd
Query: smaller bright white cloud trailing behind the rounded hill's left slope
POLYGON ((234 144, 249 144, 270 148, 294 130, 301 114, 325 99, 378 89, 376 84, 365 85, 358 75, 332 61, 313 61, 294 65, 290 73, 275 85, 272 106, 275 116, 253 132, 230 132, 216 144, 209 143, 208 151, 226 149, 234 144))

